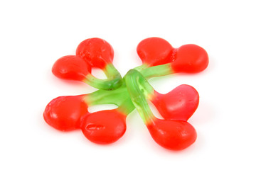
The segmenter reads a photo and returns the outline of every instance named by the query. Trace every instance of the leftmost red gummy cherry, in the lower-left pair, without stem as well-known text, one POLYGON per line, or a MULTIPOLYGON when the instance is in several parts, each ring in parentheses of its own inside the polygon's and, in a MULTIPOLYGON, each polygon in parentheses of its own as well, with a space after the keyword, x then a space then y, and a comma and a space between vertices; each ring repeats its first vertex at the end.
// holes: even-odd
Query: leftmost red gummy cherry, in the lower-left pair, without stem
POLYGON ((84 95, 60 96, 54 98, 43 113, 48 125, 57 130, 70 131, 80 128, 80 118, 87 114, 87 104, 84 95))

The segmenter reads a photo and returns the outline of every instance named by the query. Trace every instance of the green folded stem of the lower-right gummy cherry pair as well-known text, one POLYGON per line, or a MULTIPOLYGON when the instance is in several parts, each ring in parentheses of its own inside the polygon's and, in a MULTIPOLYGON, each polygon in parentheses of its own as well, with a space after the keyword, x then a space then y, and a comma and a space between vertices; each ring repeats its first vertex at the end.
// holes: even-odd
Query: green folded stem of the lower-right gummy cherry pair
POLYGON ((149 108, 146 98, 151 98, 154 95, 154 89, 146 81, 141 73, 136 69, 131 69, 125 77, 127 91, 131 97, 132 103, 137 108, 139 115, 147 125, 154 122, 154 115, 149 108))

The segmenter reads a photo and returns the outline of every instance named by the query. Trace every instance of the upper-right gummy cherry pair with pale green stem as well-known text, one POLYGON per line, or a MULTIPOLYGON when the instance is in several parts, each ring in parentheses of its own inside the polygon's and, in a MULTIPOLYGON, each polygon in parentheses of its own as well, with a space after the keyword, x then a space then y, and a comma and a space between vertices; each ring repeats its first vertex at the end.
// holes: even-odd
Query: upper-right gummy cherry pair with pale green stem
POLYGON ((206 69, 209 62, 206 50, 198 45, 174 48, 166 40, 155 37, 139 42, 137 53, 143 63, 138 70, 149 67, 142 71, 146 77, 151 77, 150 74, 156 77, 174 73, 198 73, 206 69))

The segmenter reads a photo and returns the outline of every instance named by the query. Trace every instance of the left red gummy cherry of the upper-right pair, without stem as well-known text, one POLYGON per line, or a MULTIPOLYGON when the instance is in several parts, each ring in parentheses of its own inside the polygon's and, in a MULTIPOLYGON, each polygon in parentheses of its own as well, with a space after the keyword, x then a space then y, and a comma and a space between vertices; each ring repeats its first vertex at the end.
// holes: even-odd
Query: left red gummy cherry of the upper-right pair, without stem
POLYGON ((143 63, 156 66, 171 62, 174 48, 162 38, 146 38, 139 42, 137 53, 143 63))

